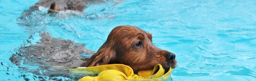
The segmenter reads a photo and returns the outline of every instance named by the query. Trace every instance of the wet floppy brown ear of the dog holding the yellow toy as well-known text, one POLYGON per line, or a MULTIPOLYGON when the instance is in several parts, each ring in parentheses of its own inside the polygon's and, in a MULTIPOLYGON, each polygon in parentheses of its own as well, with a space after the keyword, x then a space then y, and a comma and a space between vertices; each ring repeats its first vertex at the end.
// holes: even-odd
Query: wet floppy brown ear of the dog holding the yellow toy
POLYGON ((116 51, 113 46, 106 44, 106 42, 99 48, 99 50, 92 55, 82 66, 92 67, 98 65, 108 64, 111 59, 114 59, 116 51))

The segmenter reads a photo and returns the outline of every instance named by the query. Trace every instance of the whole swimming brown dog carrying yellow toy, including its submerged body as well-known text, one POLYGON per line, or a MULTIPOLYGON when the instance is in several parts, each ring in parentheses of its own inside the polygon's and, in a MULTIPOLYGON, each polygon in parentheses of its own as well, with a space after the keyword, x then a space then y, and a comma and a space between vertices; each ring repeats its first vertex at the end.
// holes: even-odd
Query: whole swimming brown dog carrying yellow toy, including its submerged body
POLYGON ((152 43, 151 34, 134 26, 114 28, 108 35, 107 41, 95 54, 86 49, 83 43, 52 38, 49 33, 41 33, 40 36, 42 39, 35 45, 30 44, 29 40, 33 41, 33 37, 29 37, 28 43, 15 50, 17 52, 13 53, 9 60, 22 70, 52 79, 59 76, 77 79, 89 76, 73 74, 69 71, 76 67, 117 63, 128 65, 137 73, 140 70, 153 69, 158 63, 164 67, 165 72, 177 65, 174 54, 157 48, 152 43), (92 56, 86 57, 84 54, 92 56), (39 68, 31 70, 24 66, 39 68))

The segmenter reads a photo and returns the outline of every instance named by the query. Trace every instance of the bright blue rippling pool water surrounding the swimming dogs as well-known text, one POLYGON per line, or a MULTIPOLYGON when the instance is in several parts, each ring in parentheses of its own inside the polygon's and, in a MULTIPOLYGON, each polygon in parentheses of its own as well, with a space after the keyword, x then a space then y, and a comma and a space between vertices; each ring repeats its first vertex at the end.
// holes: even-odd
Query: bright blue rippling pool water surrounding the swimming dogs
POLYGON ((38 42, 43 31, 97 51, 120 25, 152 33, 158 48, 176 55, 173 81, 256 81, 255 0, 114 0, 90 5, 79 16, 17 19, 38 1, 0 0, 0 81, 35 76, 9 61, 30 35, 38 42))

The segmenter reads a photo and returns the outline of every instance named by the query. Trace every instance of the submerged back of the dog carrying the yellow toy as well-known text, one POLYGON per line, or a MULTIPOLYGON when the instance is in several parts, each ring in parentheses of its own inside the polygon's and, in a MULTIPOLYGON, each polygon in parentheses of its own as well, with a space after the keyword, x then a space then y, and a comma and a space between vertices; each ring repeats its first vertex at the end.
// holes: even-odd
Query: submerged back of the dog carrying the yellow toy
MULTIPOLYGON (((42 37, 37 44, 31 44, 29 37, 19 49, 15 50, 9 60, 19 68, 36 75, 48 77, 74 77, 69 69, 80 67, 84 59, 93 55, 94 51, 86 49, 83 43, 71 40, 52 38, 49 33, 41 33, 42 37), (37 68, 27 68, 36 66, 37 68)), ((78 78, 83 77, 78 74, 78 78)), ((25 76, 24 76, 25 77, 25 76)))

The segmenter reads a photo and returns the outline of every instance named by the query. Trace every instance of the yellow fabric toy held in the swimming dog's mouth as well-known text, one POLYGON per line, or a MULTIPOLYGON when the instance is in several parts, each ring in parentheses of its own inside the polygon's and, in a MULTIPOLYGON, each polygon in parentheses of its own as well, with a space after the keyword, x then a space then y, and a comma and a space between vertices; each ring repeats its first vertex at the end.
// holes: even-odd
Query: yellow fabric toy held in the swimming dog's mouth
POLYGON ((131 67, 124 64, 108 64, 94 67, 83 67, 70 70, 74 73, 99 74, 96 77, 85 76, 78 81, 162 81, 171 78, 172 68, 164 74, 164 68, 156 64, 153 70, 142 70, 138 75, 133 73, 131 67), (159 70, 155 73, 155 71, 159 70), (154 74, 154 75, 153 75, 154 74))

